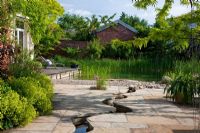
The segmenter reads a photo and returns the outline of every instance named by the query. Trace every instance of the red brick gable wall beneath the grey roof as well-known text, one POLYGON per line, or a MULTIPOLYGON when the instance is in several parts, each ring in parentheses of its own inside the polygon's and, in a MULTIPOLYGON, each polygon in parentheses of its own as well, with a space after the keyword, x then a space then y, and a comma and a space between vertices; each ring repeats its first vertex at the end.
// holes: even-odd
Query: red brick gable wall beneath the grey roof
POLYGON ((132 31, 119 24, 97 32, 96 35, 102 43, 110 42, 113 39, 128 41, 132 40, 135 36, 135 34, 132 31))

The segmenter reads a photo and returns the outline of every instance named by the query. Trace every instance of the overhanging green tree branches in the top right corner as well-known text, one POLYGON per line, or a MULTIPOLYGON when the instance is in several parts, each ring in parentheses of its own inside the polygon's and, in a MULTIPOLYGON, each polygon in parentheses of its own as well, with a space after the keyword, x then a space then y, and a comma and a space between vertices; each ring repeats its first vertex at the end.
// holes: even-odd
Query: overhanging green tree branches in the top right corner
MULTIPOLYGON (((156 6, 158 0, 135 0, 134 6, 146 9, 148 6, 156 6)), ((169 18, 169 11, 174 4, 174 0, 165 0, 162 8, 157 9, 156 24, 157 27, 151 28, 148 37, 137 38, 134 43, 139 48, 147 46, 149 41, 164 41, 165 44, 171 45, 173 49, 181 52, 188 48, 191 30, 188 24, 192 23, 191 18, 182 21, 182 19, 169 18)), ((198 0, 180 0, 181 5, 191 5, 199 10, 200 3, 198 0)), ((199 20, 200 14, 196 13, 195 19, 199 20)))

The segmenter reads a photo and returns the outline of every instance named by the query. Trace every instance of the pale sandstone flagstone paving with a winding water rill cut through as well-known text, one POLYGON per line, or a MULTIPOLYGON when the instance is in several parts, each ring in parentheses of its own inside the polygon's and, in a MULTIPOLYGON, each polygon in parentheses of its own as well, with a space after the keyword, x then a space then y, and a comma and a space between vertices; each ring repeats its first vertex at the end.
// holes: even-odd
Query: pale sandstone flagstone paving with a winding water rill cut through
POLYGON ((25 127, 9 133, 73 133, 71 118, 92 115, 88 122, 91 133, 179 133, 194 129, 193 110, 176 106, 164 98, 163 88, 144 88, 126 93, 126 99, 117 100, 130 113, 109 113, 115 108, 102 101, 113 94, 125 93, 126 86, 109 86, 106 91, 90 90, 90 85, 56 83, 54 110, 49 116, 40 116, 25 127))

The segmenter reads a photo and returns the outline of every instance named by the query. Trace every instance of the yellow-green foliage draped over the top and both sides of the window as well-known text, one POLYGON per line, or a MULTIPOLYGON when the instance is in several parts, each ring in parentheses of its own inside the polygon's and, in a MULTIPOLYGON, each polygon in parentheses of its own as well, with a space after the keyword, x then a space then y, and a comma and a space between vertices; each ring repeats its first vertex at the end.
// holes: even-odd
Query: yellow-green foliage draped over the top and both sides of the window
POLYGON ((8 29, 14 27, 17 13, 28 17, 33 42, 39 45, 40 40, 46 37, 49 25, 55 25, 57 17, 64 12, 57 0, 0 0, 0 7, 0 19, 3 20, 0 22, 0 39, 3 44, 11 43, 8 29))

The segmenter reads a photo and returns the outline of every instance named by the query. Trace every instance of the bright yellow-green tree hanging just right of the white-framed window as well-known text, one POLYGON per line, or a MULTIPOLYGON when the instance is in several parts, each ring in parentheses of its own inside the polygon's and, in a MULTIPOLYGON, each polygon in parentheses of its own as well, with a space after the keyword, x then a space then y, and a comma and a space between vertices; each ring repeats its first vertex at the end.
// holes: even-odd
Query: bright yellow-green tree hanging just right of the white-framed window
POLYGON ((57 0, 24 0, 23 15, 28 16, 30 32, 37 53, 51 49, 62 37, 62 29, 56 24, 58 16, 64 13, 57 0), (42 51, 40 51, 42 50, 42 51))

